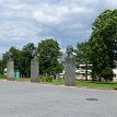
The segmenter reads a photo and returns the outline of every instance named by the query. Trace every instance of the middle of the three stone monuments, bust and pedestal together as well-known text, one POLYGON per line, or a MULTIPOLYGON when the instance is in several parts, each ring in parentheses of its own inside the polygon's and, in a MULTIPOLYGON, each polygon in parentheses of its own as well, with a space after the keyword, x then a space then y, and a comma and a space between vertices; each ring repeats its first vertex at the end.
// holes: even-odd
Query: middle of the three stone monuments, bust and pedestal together
POLYGON ((34 49, 32 52, 33 59, 31 60, 31 82, 39 82, 38 77, 38 58, 37 51, 34 49))

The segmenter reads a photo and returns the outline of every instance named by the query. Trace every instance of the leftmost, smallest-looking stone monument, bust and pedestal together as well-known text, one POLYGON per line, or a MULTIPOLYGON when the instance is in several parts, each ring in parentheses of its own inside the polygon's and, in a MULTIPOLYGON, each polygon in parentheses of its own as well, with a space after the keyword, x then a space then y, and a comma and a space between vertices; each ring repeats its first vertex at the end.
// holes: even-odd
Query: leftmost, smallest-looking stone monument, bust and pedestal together
POLYGON ((11 51, 8 52, 8 63, 7 63, 7 79, 13 80, 14 78, 14 61, 13 54, 11 51))

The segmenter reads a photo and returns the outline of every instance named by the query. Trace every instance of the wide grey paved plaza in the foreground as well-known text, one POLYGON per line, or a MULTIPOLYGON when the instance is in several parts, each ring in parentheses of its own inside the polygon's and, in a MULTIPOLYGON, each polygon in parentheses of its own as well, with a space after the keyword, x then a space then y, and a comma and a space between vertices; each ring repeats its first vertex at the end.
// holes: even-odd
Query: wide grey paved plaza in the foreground
POLYGON ((117 117, 117 92, 0 81, 0 117, 117 117))

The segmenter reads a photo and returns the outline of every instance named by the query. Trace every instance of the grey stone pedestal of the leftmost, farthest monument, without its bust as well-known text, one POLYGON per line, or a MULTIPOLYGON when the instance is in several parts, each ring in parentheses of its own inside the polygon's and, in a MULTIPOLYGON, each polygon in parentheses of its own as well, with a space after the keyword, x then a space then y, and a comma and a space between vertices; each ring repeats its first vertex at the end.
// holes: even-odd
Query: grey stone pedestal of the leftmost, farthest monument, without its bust
POLYGON ((14 80, 14 61, 8 60, 7 63, 7 79, 8 80, 14 80))

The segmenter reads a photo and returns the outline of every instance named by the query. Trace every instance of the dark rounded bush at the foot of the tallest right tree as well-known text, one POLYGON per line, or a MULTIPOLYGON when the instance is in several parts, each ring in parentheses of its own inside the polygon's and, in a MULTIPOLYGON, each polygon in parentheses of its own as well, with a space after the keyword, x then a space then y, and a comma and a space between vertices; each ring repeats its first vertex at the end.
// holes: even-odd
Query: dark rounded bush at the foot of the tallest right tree
POLYGON ((105 81, 113 81, 114 72, 110 68, 105 68, 102 70, 101 77, 105 79, 105 81))

